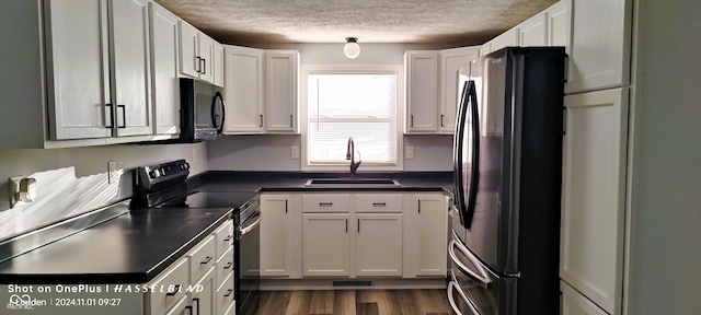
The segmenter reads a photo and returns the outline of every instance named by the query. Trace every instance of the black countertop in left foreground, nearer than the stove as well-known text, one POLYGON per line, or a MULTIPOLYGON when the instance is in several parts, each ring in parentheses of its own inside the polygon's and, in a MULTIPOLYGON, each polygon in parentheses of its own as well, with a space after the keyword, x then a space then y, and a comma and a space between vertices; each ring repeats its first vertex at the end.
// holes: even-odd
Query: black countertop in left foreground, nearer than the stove
POLYGON ((133 211, 0 264, 0 284, 146 283, 231 209, 133 211))

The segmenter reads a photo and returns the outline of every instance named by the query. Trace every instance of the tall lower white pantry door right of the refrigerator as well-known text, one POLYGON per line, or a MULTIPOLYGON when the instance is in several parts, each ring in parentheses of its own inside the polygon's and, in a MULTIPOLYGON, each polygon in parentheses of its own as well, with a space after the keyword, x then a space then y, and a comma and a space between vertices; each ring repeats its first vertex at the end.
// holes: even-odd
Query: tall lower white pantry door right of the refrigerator
POLYGON ((565 97, 560 277, 621 314, 628 89, 565 97))

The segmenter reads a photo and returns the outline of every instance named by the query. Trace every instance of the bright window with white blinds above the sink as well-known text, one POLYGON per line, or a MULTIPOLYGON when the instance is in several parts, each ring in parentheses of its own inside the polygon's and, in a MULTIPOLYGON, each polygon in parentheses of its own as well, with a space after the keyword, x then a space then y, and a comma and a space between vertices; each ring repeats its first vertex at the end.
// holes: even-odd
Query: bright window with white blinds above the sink
POLYGON ((347 170, 348 138, 363 170, 401 170, 401 66, 308 66, 303 170, 347 170))

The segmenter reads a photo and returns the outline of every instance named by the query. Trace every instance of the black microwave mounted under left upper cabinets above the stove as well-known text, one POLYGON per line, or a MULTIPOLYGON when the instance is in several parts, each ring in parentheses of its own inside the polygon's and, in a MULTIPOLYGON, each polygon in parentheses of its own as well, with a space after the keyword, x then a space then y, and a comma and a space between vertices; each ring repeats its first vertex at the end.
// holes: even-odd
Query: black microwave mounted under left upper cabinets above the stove
POLYGON ((180 79, 181 130, 179 142, 215 140, 225 124, 221 88, 195 79, 180 79))

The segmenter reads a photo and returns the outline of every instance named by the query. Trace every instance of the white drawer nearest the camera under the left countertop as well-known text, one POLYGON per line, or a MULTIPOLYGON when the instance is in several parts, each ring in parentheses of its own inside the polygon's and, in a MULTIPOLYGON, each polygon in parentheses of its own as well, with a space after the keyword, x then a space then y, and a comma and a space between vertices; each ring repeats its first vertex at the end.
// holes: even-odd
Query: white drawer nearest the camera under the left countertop
POLYGON ((187 280, 187 259, 181 258, 159 273, 147 285, 150 288, 164 288, 163 290, 149 290, 146 293, 146 305, 150 315, 161 315, 176 306, 181 300, 185 299, 185 290, 189 284, 187 280), (172 292, 168 289, 174 288, 172 292), (163 291, 163 292, 161 292, 163 291))

